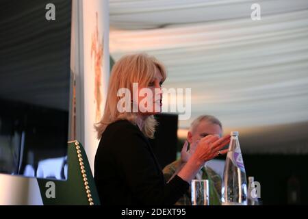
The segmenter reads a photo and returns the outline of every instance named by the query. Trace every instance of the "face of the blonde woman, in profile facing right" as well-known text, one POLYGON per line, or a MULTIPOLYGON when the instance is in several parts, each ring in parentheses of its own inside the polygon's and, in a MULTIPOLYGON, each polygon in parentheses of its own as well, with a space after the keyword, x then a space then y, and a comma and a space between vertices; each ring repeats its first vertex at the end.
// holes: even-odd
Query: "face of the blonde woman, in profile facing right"
POLYGON ((146 89, 139 88, 139 113, 154 115, 162 112, 162 74, 155 68, 155 77, 146 89), (149 95, 149 96, 148 96, 149 95))

